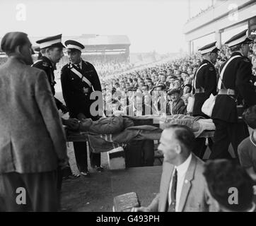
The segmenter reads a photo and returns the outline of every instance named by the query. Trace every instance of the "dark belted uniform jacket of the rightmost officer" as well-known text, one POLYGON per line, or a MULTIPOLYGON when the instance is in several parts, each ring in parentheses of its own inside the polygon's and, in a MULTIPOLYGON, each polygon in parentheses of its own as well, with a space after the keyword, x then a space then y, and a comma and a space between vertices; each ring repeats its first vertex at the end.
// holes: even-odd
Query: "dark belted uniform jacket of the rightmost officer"
MULTIPOLYGON (((228 95, 217 95, 214 109, 212 112, 212 119, 221 119, 227 122, 237 122, 238 112, 236 105, 244 104, 244 107, 256 105, 255 88, 250 81, 252 76, 252 63, 248 57, 244 57, 240 52, 233 52, 231 57, 240 55, 241 57, 233 59, 223 73, 223 84, 226 89, 235 90, 235 99, 228 95)), ((221 70, 223 69, 223 64, 221 70)), ((221 84, 221 88, 223 87, 221 84)))

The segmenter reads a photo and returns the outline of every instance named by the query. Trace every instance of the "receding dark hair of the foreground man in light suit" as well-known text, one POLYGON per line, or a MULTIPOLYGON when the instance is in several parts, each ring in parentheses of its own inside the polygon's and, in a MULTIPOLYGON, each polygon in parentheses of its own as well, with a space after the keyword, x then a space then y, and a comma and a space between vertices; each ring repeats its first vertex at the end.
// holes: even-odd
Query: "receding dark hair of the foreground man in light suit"
POLYGON ((180 141, 187 150, 192 151, 194 149, 195 137, 189 127, 180 124, 170 124, 166 129, 175 129, 176 139, 180 141))

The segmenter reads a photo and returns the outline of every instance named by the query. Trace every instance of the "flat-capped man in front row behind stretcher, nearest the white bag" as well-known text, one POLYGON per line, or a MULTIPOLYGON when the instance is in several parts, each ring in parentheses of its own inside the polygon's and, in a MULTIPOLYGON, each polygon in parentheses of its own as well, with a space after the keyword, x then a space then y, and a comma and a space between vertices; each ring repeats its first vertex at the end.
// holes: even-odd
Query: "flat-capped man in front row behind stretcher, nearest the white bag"
POLYGON ((170 101, 167 104, 166 114, 187 114, 187 107, 185 106, 184 101, 180 97, 179 89, 174 88, 172 90, 169 90, 168 96, 170 96, 170 101))

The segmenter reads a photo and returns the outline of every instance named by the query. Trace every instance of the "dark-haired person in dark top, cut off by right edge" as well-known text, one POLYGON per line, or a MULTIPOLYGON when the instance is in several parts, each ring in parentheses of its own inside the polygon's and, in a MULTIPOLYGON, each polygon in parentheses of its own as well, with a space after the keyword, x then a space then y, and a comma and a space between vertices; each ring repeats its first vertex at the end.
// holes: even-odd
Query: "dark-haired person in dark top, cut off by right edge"
POLYGON ((238 156, 242 167, 256 182, 256 105, 245 110, 243 120, 253 131, 238 145, 238 156))

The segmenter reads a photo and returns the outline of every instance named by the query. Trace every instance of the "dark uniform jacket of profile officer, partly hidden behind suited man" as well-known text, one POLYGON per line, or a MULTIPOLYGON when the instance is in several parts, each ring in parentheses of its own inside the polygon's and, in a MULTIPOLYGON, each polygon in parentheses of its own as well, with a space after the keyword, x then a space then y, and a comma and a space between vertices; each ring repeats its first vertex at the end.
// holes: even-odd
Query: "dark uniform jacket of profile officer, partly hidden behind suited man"
MULTIPOLYGON (((44 57, 44 56, 41 59, 35 61, 35 63, 32 66, 37 69, 42 69, 43 71, 45 71, 48 81, 50 83, 52 94, 55 95, 54 85, 56 84, 56 82, 54 80, 54 70, 56 69, 56 66, 52 64, 50 59, 48 59, 47 57, 44 57)), ((55 99, 57 108, 60 109, 62 106, 62 102, 60 102, 55 97, 54 97, 54 99, 55 99)))

